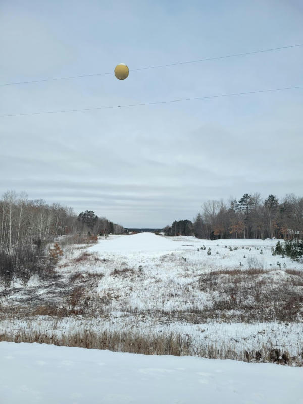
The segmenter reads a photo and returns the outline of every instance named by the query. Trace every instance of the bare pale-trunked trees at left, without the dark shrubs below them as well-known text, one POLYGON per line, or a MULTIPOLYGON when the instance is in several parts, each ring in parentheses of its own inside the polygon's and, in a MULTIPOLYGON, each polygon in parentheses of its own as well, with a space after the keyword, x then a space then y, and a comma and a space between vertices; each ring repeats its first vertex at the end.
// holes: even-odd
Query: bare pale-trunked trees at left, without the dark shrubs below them
POLYGON ((72 208, 48 205, 44 200, 29 200, 26 194, 8 191, 0 199, 0 250, 38 243, 41 246, 55 237, 71 234, 120 234, 124 228, 93 211, 75 215, 72 208))

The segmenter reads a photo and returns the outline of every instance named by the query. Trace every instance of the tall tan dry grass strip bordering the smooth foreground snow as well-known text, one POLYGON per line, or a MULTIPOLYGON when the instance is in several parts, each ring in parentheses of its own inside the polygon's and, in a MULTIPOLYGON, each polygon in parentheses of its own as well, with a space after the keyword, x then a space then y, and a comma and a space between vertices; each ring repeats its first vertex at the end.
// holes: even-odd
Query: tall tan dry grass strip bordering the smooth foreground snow
POLYGON ((46 343, 57 346, 70 346, 88 349, 108 349, 115 352, 131 352, 145 355, 193 355, 212 359, 233 359, 245 362, 272 362, 281 365, 302 366, 303 358, 298 352, 291 356, 287 350, 261 346, 256 350, 236 351, 230 346, 218 347, 205 343, 198 346, 189 335, 140 335, 131 332, 73 332, 58 336, 56 334, 23 331, 0 333, 0 341, 46 343))

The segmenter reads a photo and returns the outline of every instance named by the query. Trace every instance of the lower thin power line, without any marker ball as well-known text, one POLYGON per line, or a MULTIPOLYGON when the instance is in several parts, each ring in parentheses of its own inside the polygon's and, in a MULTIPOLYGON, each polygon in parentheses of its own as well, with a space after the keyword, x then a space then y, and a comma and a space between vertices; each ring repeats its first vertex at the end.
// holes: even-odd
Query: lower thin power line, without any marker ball
POLYGON ((59 114, 59 113, 64 113, 64 112, 81 112, 81 111, 105 110, 105 109, 110 109, 110 108, 139 107, 139 106, 142 106, 142 105, 179 103, 179 102, 184 102, 184 101, 196 101, 196 100, 199 100, 199 99, 222 98, 222 97, 231 97, 231 96, 236 96, 236 95, 258 94, 258 93, 262 93, 262 92, 292 90, 292 89, 296 89, 296 88, 303 88, 303 85, 295 86, 295 87, 274 88, 274 89, 268 89, 268 90, 235 92, 235 93, 231 93, 231 94, 209 95, 209 96, 205 96, 205 97, 171 99, 171 100, 167 100, 167 101, 155 101, 155 102, 150 102, 150 103, 113 105, 113 106, 106 106, 106 107, 81 108, 81 109, 75 109, 75 110, 30 112, 30 113, 25 113, 25 114, 8 114, 8 115, 0 115, 0 118, 17 117, 17 116, 25 116, 25 115, 59 114))

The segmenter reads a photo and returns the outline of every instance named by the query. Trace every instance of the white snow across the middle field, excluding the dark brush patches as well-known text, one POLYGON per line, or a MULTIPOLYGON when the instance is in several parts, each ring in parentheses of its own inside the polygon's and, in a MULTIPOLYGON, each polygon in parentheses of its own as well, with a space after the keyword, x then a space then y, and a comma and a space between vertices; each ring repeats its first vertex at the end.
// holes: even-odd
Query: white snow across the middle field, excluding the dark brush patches
MULTIPOLYGON (((287 257, 272 256, 271 248, 276 242, 269 239, 210 241, 139 233, 111 235, 91 246, 71 246, 64 250, 57 268, 61 277, 58 282, 31 278, 26 287, 17 284, 16 288, 15 284, 15 289, 0 294, 3 313, 7 311, 0 319, 0 329, 12 336, 37 332, 59 338, 77 331, 110 333, 123 330, 147 338, 174 334, 182 338, 188 336, 197 350, 209 344, 219 350, 233 350, 240 359, 243 351, 259 350, 263 346, 285 350, 301 358, 303 323, 299 320, 291 321, 285 317, 278 321, 275 317, 262 317, 264 311, 260 307, 260 317, 256 314, 250 319, 249 312, 241 312, 239 306, 221 311, 219 314, 223 317, 203 315, 207 306, 212 307, 214 302, 226 296, 217 290, 202 290, 201 276, 220 269, 248 269, 248 257, 262 260, 267 272, 245 282, 261 285, 260 288, 266 285, 269 293, 285 285, 302 294, 303 285, 298 282, 295 286, 295 277, 285 269, 303 270, 303 264, 287 257), (203 245, 206 250, 198 251, 203 245), (207 255, 209 247, 211 255, 207 255), (236 247, 238 249, 233 249, 236 247), (261 250, 263 254, 260 254, 261 250), (87 252, 91 255, 76 261, 87 252), (244 255, 247 258, 243 258, 244 255), (240 261, 243 267, 239 266, 240 261), (281 268, 276 265, 277 261, 281 262, 281 268), (125 273, 122 272, 124 269, 125 273), (117 274, 115 270, 121 272, 117 274), (82 276, 70 281, 71 275, 76 273, 82 276), (93 283, 88 276, 91 274, 95 275, 93 283), (10 315, 11 308, 14 313, 18 307, 24 309, 31 305, 35 309, 34 305, 54 305, 56 302, 57 307, 65 307, 69 305, 74 287, 83 287, 84 296, 89 297, 89 305, 79 303, 79 307, 85 310, 83 316, 10 315), (241 323, 241 318, 245 322, 241 323)), ((220 282, 225 278, 227 276, 222 275, 220 282)), ((220 286, 222 283, 218 288, 220 286)), ((298 319, 302 318, 300 313, 302 310, 298 319)))

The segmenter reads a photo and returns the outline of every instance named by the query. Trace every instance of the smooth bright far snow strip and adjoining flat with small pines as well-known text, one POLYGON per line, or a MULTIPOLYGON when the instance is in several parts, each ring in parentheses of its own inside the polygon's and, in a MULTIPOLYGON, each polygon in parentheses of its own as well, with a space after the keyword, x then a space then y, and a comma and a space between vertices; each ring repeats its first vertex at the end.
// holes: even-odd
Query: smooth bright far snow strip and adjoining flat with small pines
MULTIPOLYGON (((283 242, 283 241, 282 241, 283 242)), ((129 257, 134 263, 139 260, 145 262, 164 254, 176 254, 189 259, 192 264, 201 264, 211 270, 222 268, 248 269, 247 258, 256 257, 264 265, 265 269, 281 268, 302 269, 303 263, 294 262, 289 257, 272 255, 272 247, 275 247, 277 240, 261 239, 222 239, 204 240, 193 236, 166 237, 153 233, 138 233, 134 235, 111 235, 107 239, 89 247, 90 252, 95 252, 102 257, 124 256, 129 257), (205 245, 206 250, 197 251, 205 245), (233 249, 229 250, 229 246, 233 249), (211 255, 207 255, 208 248, 211 248, 211 255), (261 252, 262 250, 262 252, 261 252), (243 256, 246 256, 244 258, 243 256), (243 267, 240 267, 240 262, 243 267)), ((82 251, 83 252, 83 251, 82 251)))

